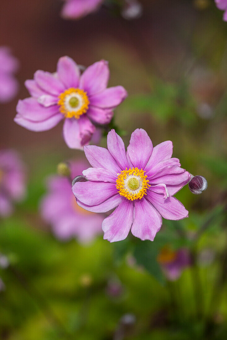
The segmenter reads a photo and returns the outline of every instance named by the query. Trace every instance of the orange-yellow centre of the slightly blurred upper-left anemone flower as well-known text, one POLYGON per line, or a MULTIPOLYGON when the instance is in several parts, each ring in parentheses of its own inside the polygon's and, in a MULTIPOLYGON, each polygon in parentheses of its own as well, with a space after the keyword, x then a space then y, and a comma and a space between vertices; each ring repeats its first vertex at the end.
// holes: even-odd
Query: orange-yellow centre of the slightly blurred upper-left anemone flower
POLYGON ((65 118, 76 118, 88 111, 90 104, 87 92, 71 87, 60 94, 58 97, 58 105, 60 106, 60 112, 65 118))

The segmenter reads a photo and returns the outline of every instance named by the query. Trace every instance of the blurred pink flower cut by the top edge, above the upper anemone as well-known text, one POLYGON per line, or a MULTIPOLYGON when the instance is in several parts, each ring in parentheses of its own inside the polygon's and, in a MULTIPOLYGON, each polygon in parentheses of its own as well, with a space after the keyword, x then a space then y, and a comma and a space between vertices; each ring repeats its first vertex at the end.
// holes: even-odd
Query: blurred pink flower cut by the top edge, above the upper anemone
POLYGON ((103 0, 64 0, 61 15, 65 19, 79 19, 97 10, 103 0))

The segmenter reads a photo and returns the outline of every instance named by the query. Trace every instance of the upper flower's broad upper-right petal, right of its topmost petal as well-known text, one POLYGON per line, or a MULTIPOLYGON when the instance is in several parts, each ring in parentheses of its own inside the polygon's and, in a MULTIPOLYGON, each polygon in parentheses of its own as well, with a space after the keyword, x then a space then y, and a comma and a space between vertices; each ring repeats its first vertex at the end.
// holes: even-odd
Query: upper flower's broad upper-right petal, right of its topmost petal
MULTIPOLYGON (((79 87, 84 89, 88 96, 106 89, 109 81, 108 62, 101 60, 89 66, 80 77, 79 87)), ((89 98, 90 99, 90 98, 89 98)))

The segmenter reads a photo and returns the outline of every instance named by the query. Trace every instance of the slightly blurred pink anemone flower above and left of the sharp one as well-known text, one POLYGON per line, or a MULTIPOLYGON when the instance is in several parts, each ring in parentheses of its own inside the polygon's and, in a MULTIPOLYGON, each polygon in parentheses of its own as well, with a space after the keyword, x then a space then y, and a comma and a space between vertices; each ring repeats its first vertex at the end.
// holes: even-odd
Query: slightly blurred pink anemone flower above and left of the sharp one
POLYGON ((89 66, 80 75, 77 64, 61 57, 57 72, 36 71, 25 86, 31 97, 19 100, 15 122, 31 131, 45 131, 64 121, 63 136, 68 147, 82 149, 89 143, 96 124, 108 124, 127 96, 122 86, 107 88, 108 63, 89 66))

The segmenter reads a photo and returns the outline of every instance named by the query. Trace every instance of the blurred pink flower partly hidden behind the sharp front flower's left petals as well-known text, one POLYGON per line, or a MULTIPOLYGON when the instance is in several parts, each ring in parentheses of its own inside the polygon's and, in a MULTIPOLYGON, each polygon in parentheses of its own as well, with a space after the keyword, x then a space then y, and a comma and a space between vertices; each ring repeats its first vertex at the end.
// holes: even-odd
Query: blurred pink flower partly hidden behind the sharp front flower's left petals
MULTIPOLYGON (((82 175, 87 165, 87 162, 71 162, 71 180, 82 175)), ((48 193, 41 202, 41 214, 59 239, 77 237, 80 242, 89 242, 101 233, 103 218, 77 205, 71 180, 58 175, 48 179, 48 193)))

